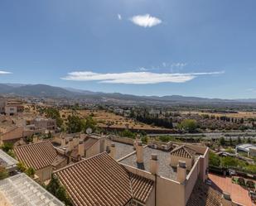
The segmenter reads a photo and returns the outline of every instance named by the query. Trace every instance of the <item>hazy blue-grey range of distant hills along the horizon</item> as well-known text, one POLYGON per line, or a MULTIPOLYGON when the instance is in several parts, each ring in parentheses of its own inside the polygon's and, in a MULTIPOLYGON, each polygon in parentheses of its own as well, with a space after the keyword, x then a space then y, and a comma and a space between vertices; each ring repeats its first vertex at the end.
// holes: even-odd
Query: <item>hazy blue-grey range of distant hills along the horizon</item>
POLYGON ((136 96, 123 93, 100 93, 82 89, 60 88, 46 84, 0 84, 0 94, 17 96, 31 96, 44 98, 83 98, 102 102, 129 102, 129 103, 256 103, 256 99, 220 99, 184 97, 181 95, 169 96, 136 96))

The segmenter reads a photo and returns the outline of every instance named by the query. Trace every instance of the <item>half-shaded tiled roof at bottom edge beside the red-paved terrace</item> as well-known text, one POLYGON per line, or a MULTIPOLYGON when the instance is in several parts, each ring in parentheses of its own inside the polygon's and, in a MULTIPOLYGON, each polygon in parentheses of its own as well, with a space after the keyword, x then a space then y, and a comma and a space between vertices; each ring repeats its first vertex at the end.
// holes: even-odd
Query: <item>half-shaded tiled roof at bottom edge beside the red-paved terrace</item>
POLYGON ((218 191, 198 180, 186 206, 220 206, 221 202, 218 191))

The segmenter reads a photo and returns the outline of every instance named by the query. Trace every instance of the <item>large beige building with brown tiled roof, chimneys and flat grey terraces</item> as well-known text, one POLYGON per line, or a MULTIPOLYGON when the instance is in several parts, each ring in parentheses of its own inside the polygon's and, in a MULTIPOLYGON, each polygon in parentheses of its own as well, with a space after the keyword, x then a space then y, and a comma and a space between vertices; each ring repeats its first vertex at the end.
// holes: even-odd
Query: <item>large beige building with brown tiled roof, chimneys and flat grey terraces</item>
POLYGON ((209 148, 168 142, 167 150, 143 146, 138 139, 109 138, 115 140, 109 155, 100 153, 56 171, 75 205, 235 205, 204 183, 209 148))

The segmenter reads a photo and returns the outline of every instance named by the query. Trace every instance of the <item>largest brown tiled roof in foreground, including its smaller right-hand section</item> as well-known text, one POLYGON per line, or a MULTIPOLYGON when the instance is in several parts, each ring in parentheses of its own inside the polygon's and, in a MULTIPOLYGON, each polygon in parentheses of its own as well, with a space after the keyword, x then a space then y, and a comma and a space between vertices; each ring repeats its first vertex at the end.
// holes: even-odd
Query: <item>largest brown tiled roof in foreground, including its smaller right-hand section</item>
POLYGON ((56 175, 75 206, 123 206, 133 196, 144 202, 153 185, 129 174, 106 152, 57 170, 56 175))

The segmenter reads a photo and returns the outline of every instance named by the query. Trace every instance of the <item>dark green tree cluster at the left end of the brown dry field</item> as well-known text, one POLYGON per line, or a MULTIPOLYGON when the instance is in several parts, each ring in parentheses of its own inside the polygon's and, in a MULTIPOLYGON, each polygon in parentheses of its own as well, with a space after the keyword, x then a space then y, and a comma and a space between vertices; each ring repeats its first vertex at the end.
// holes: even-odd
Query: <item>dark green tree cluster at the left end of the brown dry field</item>
POLYGON ((96 122, 93 117, 89 116, 81 118, 76 115, 70 115, 67 117, 66 131, 69 133, 86 132, 87 128, 91 128, 93 131, 96 129, 96 122))

